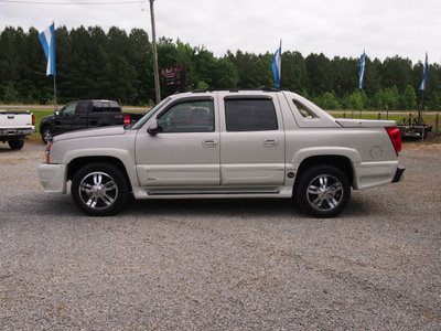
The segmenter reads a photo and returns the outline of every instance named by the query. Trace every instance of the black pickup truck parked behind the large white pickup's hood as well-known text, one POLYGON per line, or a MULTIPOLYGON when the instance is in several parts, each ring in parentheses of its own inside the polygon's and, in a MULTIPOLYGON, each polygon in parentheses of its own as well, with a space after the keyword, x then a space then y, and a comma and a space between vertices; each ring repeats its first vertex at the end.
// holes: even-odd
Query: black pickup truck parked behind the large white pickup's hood
POLYGON ((40 134, 44 143, 53 136, 67 131, 105 127, 127 126, 136 122, 143 113, 122 113, 117 102, 112 100, 82 100, 68 103, 54 115, 45 116, 40 124, 40 134))

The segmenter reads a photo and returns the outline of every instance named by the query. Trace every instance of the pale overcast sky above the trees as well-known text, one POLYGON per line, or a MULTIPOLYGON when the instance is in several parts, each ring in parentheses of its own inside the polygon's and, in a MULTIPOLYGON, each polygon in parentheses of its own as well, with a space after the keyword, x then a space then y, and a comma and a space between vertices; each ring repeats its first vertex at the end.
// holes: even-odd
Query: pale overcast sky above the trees
MULTIPOLYGON (((441 62, 439 0, 155 0, 157 38, 204 46, 216 57, 227 51, 282 53, 305 57, 359 57, 384 61, 396 55, 413 64, 441 62)), ((144 0, 0 0, 6 26, 45 30, 118 26, 143 29, 151 39, 150 4, 144 0)))

